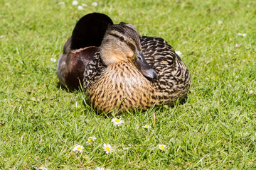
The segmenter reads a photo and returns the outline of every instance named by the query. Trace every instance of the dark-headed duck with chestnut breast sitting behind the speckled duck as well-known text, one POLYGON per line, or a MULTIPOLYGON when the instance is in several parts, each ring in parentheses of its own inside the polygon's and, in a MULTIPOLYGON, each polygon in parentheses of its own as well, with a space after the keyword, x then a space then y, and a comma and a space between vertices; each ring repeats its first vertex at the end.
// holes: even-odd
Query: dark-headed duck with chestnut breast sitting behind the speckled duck
POLYGON ((62 86, 70 91, 82 89, 85 67, 99 50, 111 25, 113 21, 103 13, 89 13, 80 18, 58 58, 56 72, 62 86))

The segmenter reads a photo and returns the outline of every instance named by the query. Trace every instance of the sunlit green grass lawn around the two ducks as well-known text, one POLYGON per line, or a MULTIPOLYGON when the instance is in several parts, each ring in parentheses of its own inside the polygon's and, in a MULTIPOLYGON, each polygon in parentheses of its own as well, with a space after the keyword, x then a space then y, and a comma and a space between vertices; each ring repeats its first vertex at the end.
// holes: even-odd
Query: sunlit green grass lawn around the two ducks
POLYGON ((0 169, 256 169, 255 1, 84 0, 83 11, 58 2, 0 2, 0 169), (125 113, 116 127, 84 105, 84 94, 58 86, 50 59, 94 11, 181 51, 188 101, 125 113), (91 136, 97 140, 87 146, 91 136), (105 154, 103 143, 114 152, 105 154))

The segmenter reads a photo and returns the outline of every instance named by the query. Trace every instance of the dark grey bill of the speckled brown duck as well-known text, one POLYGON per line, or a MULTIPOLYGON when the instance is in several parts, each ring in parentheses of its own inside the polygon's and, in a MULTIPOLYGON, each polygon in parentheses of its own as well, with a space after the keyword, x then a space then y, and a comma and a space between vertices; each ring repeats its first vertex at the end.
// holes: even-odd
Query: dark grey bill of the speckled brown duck
POLYGON ((139 52, 138 50, 136 50, 136 52, 134 52, 134 55, 132 57, 132 62, 135 64, 137 69, 139 69, 139 72, 142 72, 142 74, 145 77, 149 77, 151 79, 156 78, 156 76, 157 76, 156 71, 154 71, 154 69, 152 69, 149 66, 149 64, 146 62, 144 56, 142 55, 142 53, 139 52))

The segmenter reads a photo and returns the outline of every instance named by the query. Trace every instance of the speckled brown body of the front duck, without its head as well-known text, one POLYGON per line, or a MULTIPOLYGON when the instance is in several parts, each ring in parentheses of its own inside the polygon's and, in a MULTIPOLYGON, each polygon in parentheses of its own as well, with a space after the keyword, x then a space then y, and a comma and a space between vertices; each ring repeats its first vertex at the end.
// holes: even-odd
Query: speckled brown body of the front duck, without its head
POLYGON ((156 79, 146 79, 133 64, 117 62, 105 66, 96 52, 85 69, 84 88, 92 106, 102 112, 139 108, 156 103, 172 106, 188 93, 190 74, 174 49, 164 39, 140 38, 146 62, 156 71, 156 79))

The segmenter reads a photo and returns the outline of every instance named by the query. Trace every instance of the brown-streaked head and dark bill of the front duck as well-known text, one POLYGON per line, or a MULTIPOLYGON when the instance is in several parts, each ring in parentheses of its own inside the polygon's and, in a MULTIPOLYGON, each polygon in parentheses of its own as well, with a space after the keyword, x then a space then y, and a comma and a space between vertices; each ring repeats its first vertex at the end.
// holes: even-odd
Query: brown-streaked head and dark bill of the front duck
POLYGON ((145 77, 156 78, 157 74, 142 55, 138 30, 129 23, 119 23, 107 28, 100 47, 100 56, 105 65, 116 62, 131 62, 145 77))

